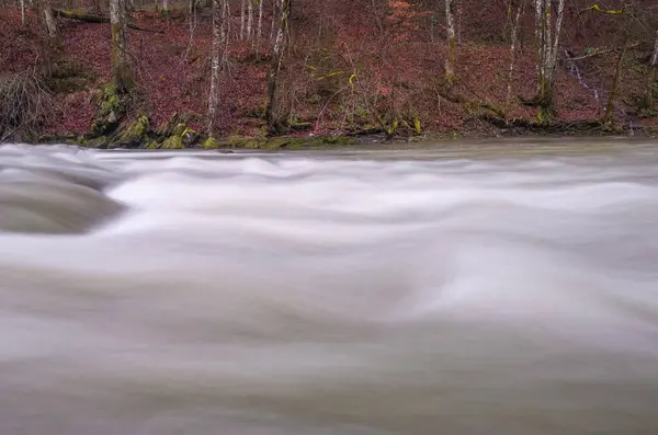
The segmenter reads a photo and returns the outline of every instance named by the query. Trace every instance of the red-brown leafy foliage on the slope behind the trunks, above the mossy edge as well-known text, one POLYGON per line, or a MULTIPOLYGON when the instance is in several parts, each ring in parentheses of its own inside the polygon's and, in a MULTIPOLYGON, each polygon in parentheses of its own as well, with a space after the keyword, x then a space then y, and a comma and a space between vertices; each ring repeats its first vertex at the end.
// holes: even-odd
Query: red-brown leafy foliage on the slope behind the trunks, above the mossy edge
MULTIPOLYGON (((509 37, 503 32, 508 1, 484 4, 464 0, 461 4, 464 42, 456 49, 460 92, 468 100, 504 107, 511 117, 532 118, 534 110, 519 104, 517 99, 519 95, 530 99, 535 92, 534 53, 530 48, 532 14, 526 12, 527 22, 522 23, 524 44, 518 51, 508 106, 510 53, 507 43, 501 44, 501 38, 509 37)), ((591 35, 598 35, 598 45, 614 41, 619 26, 611 21, 613 19, 583 18, 574 8, 568 11, 568 22, 587 26, 587 32, 567 24, 565 47, 581 50, 585 45, 593 44, 591 35)), ((314 123, 318 133, 350 128, 347 112, 358 110, 406 114, 420 118, 426 128, 435 130, 462 128, 468 114, 463 106, 441 98, 436 90, 435 82, 443 75, 445 59, 442 12, 438 11, 423 9, 420 1, 412 0, 374 3, 353 0, 349 8, 339 0, 305 2, 294 13, 295 50, 286 71, 293 83, 291 100, 295 115, 314 123), (429 32, 431 20, 433 35, 429 32), (324 59, 325 73, 336 73, 333 88, 319 79, 320 73, 309 73, 309 67, 322 67, 318 58, 324 59), (324 91, 328 93, 322 94, 324 91), (367 104, 372 107, 364 107, 367 104)), ((209 88, 209 20, 202 13, 190 38, 184 14, 173 12, 170 20, 163 20, 157 12, 132 14, 138 26, 162 32, 129 31, 128 50, 139 90, 136 111, 148 114, 156 126, 164 124, 177 112, 192 112, 200 115, 193 127, 201 129, 209 88)), ((15 10, 2 11, 0 20, 4 23, 0 26, 0 76, 34 66, 39 56, 41 37, 31 31, 35 28, 34 16, 29 14, 30 25, 25 28, 21 27, 20 13, 15 10)), ((70 21, 60 21, 59 25, 65 58, 81 64, 91 82, 87 91, 57 95, 59 111, 48 125, 48 133, 83 133, 94 117, 92 89, 110 80, 110 25, 70 21)), ((262 130, 264 124, 261 116, 268 64, 254 58, 249 43, 231 42, 229 59, 220 87, 216 126, 224 134, 254 134, 262 130)), ((586 64, 582 73, 589 84, 599 90, 599 100, 560 67, 555 95, 560 119, 600 116, 614 59, 597 61, 597 68, 586 64)), ((626 73, 632 75, 632 69, 626 73)), ((636 76, 633 77, 625 80, 620 101, 627 100, 642 87, 636 76)), ((372 124, 372 114, 367 116, 363 115, 360 122, 372 124)))

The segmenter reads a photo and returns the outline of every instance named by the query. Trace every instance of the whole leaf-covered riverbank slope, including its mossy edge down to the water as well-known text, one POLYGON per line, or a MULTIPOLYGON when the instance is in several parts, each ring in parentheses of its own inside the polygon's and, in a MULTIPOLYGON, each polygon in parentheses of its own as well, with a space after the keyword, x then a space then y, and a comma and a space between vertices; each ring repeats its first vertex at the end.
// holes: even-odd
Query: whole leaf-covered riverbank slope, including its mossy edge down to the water
MULTIPOLYGON (((399 34, 377 39, 366 32, 372 31, 372 16, 366 10, 358 13, 366 4, 359 4, 352 9, 337 4, 331 13, 340 25, 322 27, 321 34, 317 34, 313 9, 295 12, 297 45, 284 77, 291 100, 290 129, 284 137, 269 136, 264 115, 266 46, 230 41, 230 68, 222 79, 215 139, 207 140, 208 10, 198 12, 190 33, 186 10, 172 4, 168 16, 152 10, 131 14, 136 26, 158 36, 131 31, 136 89, 121 107, 109 84, 110 26, 58 18, 61 49, 52 59, 48 79, 37 82, 44 90, 39 101, 47 104, 31 115, 34 125, 30 128, 5 128, 0 139, 90 148, 297 149, 423 138, 651 137, 658 130, 655 113, 643 111, 639 104, 650 51, 646 44, 626 50, 612 119, 600 122, 617 66, 619 26, 605 16, 588 19, 587 38, 564 35, 565 53, 578 60, 560 57, 555 112, 549 123, 540 124, 537 108, 527 102, 536 92, 530 28, 510 69, 509 42, 500 39, 497 28, 501 16, 483 16, 479 5, 466 8, 464 20, 474 27, 465 28, 457 44, 457 79, 446 89, 442 82, 445 44, 428 38, 424 12, 407 18, 413 25, 396 27, 399 34)), ((270 11, 264 13, 268 22, 270 11)), ((35 59, 43 57, 41 36, 34 26, 22 27, 18 13, 2 14, 10 25, 0 30, 0 80, 36 75, 35 59)), ((32 20, 29 14, 27 23, 32 20)))

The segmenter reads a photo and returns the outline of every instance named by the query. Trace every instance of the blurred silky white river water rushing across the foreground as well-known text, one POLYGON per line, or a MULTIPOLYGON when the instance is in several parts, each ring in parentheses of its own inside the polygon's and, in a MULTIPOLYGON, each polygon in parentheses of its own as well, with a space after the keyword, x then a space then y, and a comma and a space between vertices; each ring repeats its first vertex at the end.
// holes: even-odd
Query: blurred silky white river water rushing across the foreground
POLYGON ((658 433, 658 150, 449 154, 0 148, 0 433, 658 433))

